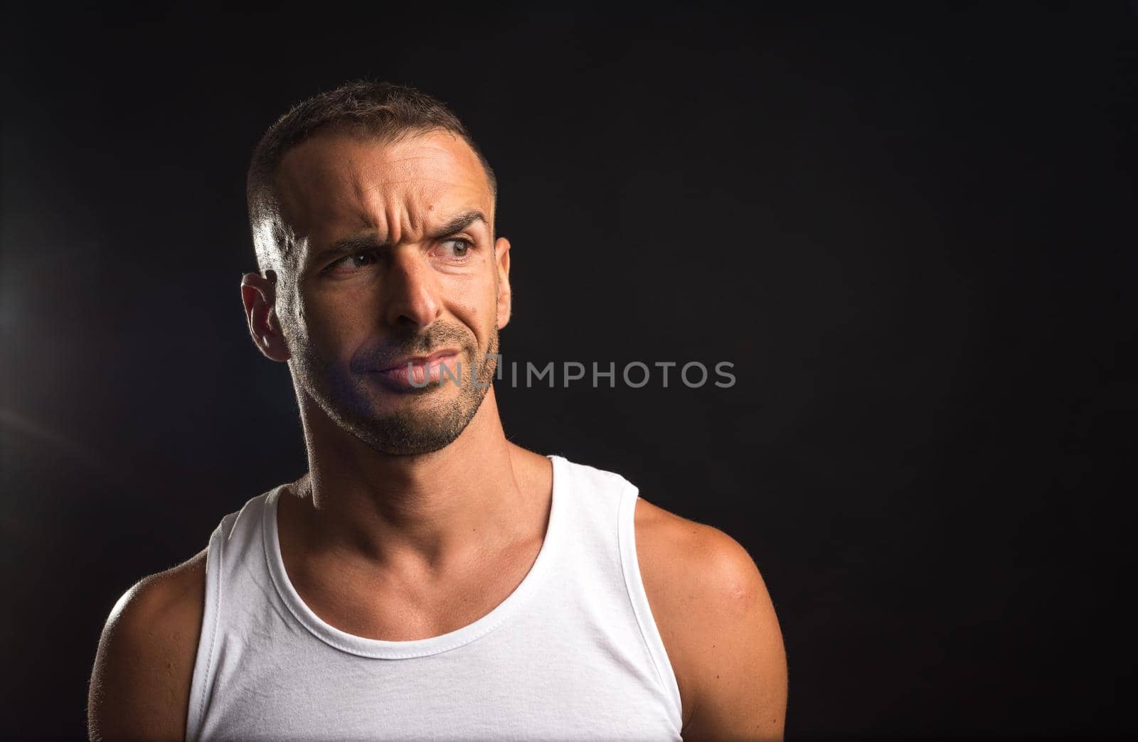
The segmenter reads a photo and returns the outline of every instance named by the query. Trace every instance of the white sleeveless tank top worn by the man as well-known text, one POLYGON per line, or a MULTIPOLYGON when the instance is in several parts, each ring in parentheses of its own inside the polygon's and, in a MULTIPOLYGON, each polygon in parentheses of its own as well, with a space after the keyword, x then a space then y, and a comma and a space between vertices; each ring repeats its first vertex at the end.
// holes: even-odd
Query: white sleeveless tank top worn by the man
POLYGON ((283 485, 209 538, 187 740, 679 740, 679 689, 636 561, 638 492, 553 462, 537 560, 442 636, 341 632, 300 600, 277 538, 283 485))

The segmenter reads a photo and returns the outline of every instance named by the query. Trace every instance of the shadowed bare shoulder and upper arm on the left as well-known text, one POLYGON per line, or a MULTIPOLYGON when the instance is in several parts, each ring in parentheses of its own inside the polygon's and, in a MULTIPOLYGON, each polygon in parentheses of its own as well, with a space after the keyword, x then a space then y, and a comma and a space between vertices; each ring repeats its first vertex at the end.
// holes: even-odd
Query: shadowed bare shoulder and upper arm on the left
POLYGON ((118 600, 91 674, 92 740, 183 739, 204 599, 203 551, 118 600))

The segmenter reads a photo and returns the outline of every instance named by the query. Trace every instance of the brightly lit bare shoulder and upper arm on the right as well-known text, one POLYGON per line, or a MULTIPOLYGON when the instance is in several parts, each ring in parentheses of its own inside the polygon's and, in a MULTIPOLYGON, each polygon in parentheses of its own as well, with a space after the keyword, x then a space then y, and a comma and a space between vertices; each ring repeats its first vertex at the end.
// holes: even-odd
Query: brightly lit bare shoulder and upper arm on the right
POLYGON ((643 500, 636 551, 679 685, 684 740, 781 740, 786 654, 750 554, 723 531, 643 500))

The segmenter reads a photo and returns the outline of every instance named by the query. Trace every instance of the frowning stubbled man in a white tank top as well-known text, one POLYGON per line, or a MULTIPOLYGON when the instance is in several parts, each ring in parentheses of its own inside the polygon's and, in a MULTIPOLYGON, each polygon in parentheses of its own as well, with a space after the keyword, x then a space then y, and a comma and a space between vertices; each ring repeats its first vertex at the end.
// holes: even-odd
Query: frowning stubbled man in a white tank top
POLYGON ((510 242, 457 118, 397 85, 318 96, 265 134, 248 197, 241 296, 289 365, 308 472, 123 595, 91 736, 781 737, 748 553, 506 440, 510 242))

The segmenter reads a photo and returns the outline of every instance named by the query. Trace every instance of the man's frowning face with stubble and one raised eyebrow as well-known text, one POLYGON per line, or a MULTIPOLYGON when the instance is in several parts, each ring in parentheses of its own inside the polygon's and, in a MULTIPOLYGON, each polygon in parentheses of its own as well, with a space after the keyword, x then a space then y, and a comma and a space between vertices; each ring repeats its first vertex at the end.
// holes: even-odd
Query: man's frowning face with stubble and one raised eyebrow
POLYGON ((298 390, 377 451, 448 445, 510 316, 510 245, 478 157, 450 132, 323 134, 284 156, 277 192, 296 239, 277 312, 298 390))

